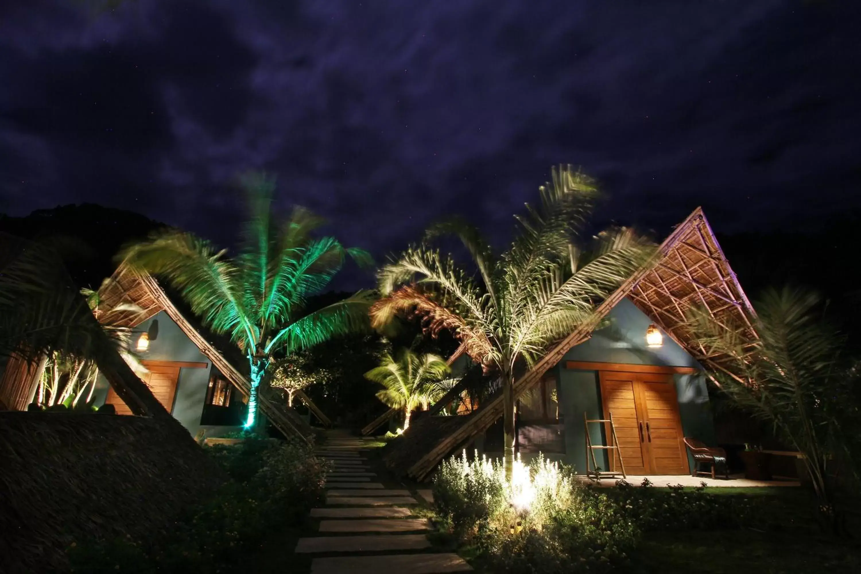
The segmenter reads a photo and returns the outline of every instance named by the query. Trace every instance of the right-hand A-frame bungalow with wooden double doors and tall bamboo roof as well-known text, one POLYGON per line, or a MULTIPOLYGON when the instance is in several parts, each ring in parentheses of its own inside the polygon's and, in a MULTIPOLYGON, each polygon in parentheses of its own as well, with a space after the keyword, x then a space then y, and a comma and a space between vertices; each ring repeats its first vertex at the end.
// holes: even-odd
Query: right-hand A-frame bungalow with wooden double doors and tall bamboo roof
MULTIPOLYGON (((604 419, 612 411, 629 474, 687 474, 691 460, 684 436, 706 442, 714 437, 708 372, 732 374, 728 357, 709 355, 697 343, 686 317, 691 307, 706 310, 718 324, 743 325, 746 339, 756 340, 753 308, 701 208, 676 227, 649 265, 604 300, 590 323, 516 380, 520 451, 541 451, 585 472, 584 420, 604 419), (651 325, 662 331, 660 347, 647 346, 651 325)), ((487 431, 502 412, 497 393, 473 414, 420 417, 395 441, 401 445, 389 460, 397 461, 395 470, 420 480, 462 447, 501 453, 501 443, 493 445, 501 430, 487 431)), ((605 427, 591 427, 594 443, 609 444, 605 427)), ((611 459, 599 453, 598 466, 614 468, 611 459)))

